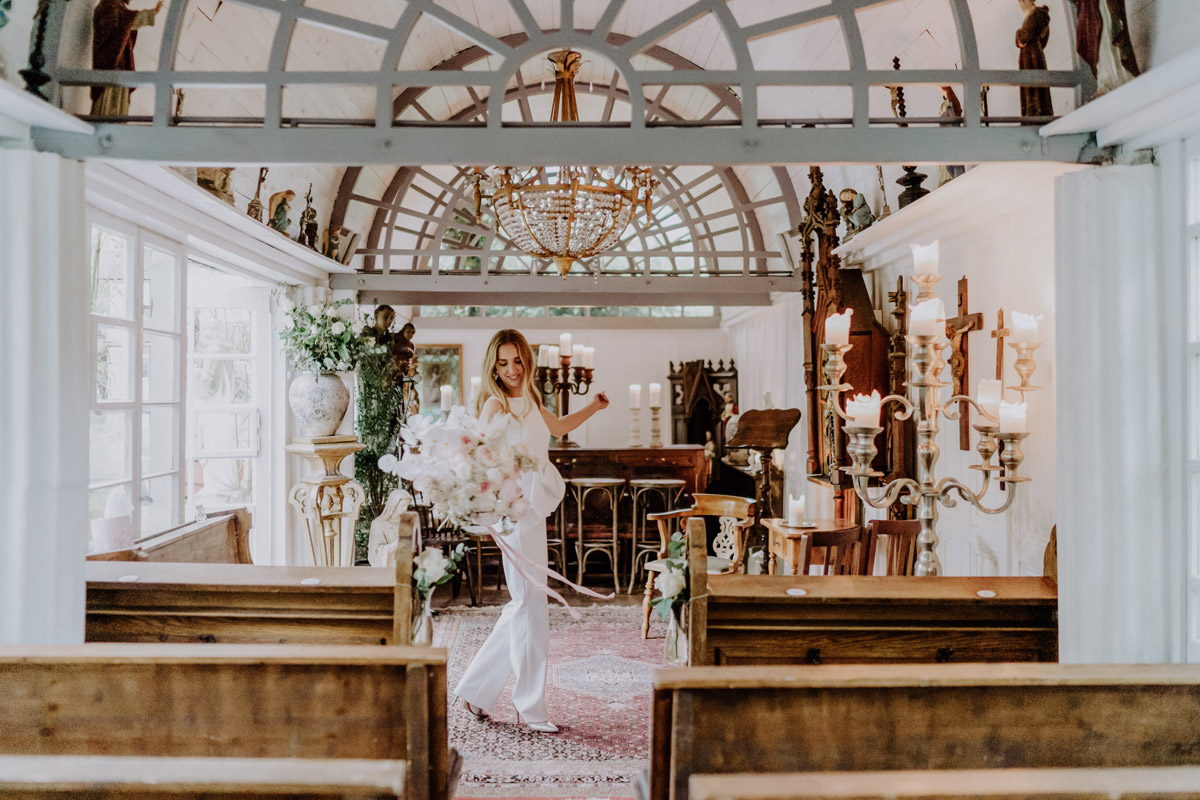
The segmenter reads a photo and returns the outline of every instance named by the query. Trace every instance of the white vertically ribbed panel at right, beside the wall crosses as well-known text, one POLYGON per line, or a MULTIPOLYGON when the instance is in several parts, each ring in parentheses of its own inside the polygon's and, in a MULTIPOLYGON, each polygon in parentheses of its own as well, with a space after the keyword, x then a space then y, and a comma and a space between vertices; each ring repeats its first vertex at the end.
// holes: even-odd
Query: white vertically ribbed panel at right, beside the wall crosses
POLYGON ((1184 293, 1153 167, 1057 181, 1063 662, 1182 660, 1184 293))

